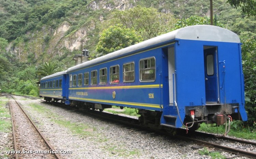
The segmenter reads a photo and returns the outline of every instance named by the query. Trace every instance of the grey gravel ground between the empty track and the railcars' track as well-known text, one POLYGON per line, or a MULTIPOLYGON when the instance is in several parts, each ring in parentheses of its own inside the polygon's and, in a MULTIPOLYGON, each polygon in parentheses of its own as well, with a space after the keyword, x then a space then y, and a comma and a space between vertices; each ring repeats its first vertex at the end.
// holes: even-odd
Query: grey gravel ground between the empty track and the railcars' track
POLYGON ((72 151, 72 154, 60 154, 63 158, 211 158, 191 148, 196 144, 100 120, 42 103, 40 99, 18 96, 16 99, 55 149, 72 151))

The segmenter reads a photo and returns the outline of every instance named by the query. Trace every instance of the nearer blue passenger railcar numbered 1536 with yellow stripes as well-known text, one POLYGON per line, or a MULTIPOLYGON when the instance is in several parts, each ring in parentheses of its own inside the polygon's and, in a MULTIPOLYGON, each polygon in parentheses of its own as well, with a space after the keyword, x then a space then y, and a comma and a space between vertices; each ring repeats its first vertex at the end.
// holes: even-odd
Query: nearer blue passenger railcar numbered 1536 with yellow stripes
POLYGON ((76 65, 67 70, 66 104, 136 108, 142 124, 159 129, 246 121, 240 39, 190 26, 76 65))

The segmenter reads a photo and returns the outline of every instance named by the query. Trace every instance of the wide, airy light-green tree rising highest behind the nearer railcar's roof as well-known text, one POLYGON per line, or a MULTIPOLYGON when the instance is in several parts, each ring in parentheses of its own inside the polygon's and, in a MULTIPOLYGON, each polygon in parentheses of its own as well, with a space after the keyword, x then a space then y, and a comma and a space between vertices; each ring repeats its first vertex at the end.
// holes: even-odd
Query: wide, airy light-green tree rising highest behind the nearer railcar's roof
POLYGON ((115 10, 110 20, 104 22, 102 26, 120 23, 126 28, 134 29, 143 40, 147 40, 168 32, 176 21, 171 13, 161 13, 153 7, 136 6, 125 11, 115 10))

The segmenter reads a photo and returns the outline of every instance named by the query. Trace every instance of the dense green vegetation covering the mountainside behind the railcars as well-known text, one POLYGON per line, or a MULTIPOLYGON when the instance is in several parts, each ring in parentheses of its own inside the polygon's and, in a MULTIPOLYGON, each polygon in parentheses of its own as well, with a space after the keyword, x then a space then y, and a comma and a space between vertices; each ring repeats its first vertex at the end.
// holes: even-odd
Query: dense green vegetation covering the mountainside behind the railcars
MULTIPOLYGON (((242 60, 249 121, 246 125, 237 124, 255 131, 255 1, 228 2, 237 9, 226 1, 213 1, 215 20, 217 26, 237 33, 243 43, 242 60)), ((54 72, 73 65, 73 55, 80 54, 81 50, 71 51, 64 46, 63 39, 77 41, 74 37, 81 28, 86 30, 86 36, 80 39, 85 41, 83 47, 95 57, 96 54, 105 54, 184 26, 210 23, 209 1, 129 1, 126 6, 132 6, 133 9, 124 11, 120 11, 123 3, 116 3, 112 0, 0 0, 1 91, 36 95, 35 82, 47 75, 40 71, 41 68, 54 72), (63 24, 68 29, 56 38, 56 30, 63 24), (102 33, 101 36, 99 33, 102 33), (107 34, 112 36, 107 37, 107 34), (104 40, 113 41, 111 38, 114 36, 127 38, 123 38, 115 47, 106 46, 104 40)))

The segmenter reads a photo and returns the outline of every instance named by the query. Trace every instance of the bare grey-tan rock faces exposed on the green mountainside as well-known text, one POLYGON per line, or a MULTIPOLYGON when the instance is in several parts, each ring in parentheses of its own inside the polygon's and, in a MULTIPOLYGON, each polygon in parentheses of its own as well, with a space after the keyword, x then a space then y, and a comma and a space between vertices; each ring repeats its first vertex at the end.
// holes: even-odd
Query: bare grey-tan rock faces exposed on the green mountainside
MULTIPOLYGON (((109 11, 118 9, 123 11, 134 7, 135 3, 135 0, 95 0, 87 5, 87 9, 90 11, 97 11, 100 9, 109 11)), ((74 13, 74 15, 77 14, 78 13, 74 13)), ((89 17, 85 15, 84 18, 89 17)), ((103 15, 99 15, 98 19, 103 21, 103 15)), ((55 55, 61 56, 63 55, 63 48, 70 51, 80 50, 82 44, 85 45, 89 39, 88 33, 95 29, 95 22, 92 21, 89 25, 82 26, 81 28, 68 33, 70 27, 72 27, 72 24, 64 21, 55 30, 46 26, 40 31, 29 31, 26 34, 29 36, 27 43, 19 42, 15 47, 9 45, 6 49, 15 54, 15 57, 21 62, 27 62, 28 56, 31 53, 33 53, 34 58, 37 59, 42 52, 45 52, 45 49, 48 54, 47 57, 54 57, 55 55)))

